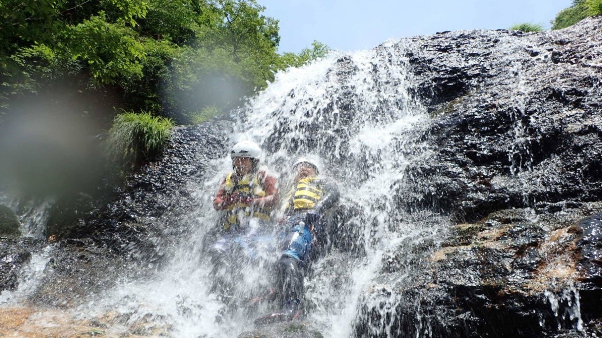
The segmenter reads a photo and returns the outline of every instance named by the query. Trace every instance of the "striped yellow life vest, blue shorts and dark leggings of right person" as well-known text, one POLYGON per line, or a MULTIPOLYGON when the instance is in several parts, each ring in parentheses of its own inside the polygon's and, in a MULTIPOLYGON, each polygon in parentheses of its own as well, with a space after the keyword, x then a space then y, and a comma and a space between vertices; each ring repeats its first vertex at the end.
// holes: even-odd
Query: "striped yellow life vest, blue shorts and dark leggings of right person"
POLYGON ((282 290, 282 309, 302 308, 303 268, 309 261, 317 236, 323 234, 322 214, 339 199, 337 185, 316 177, 299 180, 287 196, 285 210, 290 232, 282 242, 278 288, 282 290))

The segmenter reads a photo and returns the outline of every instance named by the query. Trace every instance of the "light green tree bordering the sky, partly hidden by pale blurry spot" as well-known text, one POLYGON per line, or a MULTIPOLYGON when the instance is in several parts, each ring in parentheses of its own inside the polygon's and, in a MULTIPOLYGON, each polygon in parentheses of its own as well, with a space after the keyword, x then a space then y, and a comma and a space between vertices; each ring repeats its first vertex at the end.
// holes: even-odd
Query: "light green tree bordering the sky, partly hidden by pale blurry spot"
POLYGON ((203 106, 240 105, 273 81, 280 56, 278 20, 249 0, 203 2, 196 17, 196 39, 170 64, 163 82, 164 106, 184 123, 203 106))

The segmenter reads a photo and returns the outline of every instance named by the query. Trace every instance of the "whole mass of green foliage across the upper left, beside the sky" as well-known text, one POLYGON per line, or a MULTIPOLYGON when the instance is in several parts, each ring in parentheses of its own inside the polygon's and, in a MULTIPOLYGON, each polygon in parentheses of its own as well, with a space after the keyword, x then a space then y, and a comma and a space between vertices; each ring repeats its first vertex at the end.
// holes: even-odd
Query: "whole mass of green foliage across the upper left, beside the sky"
POLYGON ((78 81, 67 96, 120 93, 116 108, 185 116, 238 105, 282 69, 278 20, 264 10, 255 0, 2 0, 0 114, 65 78, 78 81))

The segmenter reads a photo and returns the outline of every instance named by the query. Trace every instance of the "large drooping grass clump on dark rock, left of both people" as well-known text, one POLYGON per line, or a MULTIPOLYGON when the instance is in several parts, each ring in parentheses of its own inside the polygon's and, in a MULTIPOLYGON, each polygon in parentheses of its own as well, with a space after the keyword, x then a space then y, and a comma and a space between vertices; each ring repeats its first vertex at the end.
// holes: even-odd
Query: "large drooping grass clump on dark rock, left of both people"
POLYGON ((173 128, 169 118, 150 112, 123 112, 108 132, 108 155, 124 167, 136 167, 161 155, 173 128))

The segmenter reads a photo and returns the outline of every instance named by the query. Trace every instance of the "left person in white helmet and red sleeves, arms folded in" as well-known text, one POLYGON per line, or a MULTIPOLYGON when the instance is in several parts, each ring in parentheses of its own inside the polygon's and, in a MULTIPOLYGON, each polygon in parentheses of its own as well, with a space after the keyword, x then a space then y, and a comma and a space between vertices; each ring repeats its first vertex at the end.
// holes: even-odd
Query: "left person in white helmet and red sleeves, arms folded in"
POLYGON ((223 230, 240 229, 244 218, 271 220, 270 212, 278 203, 278 182, 265 170, 259 170, 261 148, 252 141, 232 147, 232 171, 226 175, 213 199, 216 210, 225 211, 223 230))

